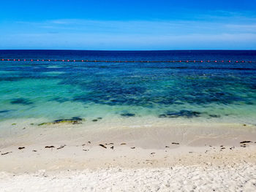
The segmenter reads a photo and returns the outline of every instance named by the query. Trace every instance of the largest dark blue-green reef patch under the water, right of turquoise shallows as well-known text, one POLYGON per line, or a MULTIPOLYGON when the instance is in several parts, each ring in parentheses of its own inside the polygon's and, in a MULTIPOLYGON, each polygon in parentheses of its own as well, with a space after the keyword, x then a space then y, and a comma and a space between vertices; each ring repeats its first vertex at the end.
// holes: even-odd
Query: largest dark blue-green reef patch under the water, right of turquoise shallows
MULTIPOLYGON (((74 74, 70 74, 74 75, 74 74)), ((244 96, 242 90, 247 82, 236 77, 205 76, 205 74, 177 75, 171 72, 149 74, 141 72, 135 77, 127 72, 97 76, 86 74, 68 78, 61 84, 75 85, 80 94, 72 101, 89 104, 132 105, 154 107, 154 104, 233 104, 245 102, 253 104, 254 95, 244 96), (145 73, 145 74, 144 74, 145 73), (174 76, 173 76, 174 75, 174 76), (88 79, 86 78, 88 77, 88 79), (172 78, 175 77, 174 80, 172 78), (173 84, 175 83, 175 84, 173 84), (239 91, 234 91, 236 87, 239 91)), ((249 94, 249 93, 248 93, 249 94)))

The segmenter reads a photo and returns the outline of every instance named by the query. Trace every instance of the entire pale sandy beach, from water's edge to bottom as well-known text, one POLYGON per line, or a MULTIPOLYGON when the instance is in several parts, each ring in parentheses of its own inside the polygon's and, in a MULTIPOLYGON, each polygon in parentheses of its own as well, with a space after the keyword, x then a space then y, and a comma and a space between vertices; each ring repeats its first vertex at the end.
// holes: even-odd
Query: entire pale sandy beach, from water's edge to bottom
POLYGON ((0 136, 0 191, 256 190, 254 125, 17 123, 0 136))

